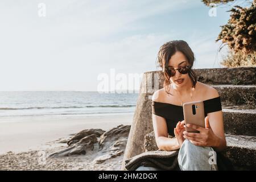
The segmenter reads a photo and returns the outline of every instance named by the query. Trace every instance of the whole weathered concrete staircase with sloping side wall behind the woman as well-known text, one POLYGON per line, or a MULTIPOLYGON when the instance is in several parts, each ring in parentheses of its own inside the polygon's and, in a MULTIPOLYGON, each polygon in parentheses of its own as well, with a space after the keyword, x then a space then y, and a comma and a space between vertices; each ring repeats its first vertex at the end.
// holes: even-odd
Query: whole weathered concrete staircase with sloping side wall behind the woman
MULTIPOLYGON (((235 169, 256 169, 256 67, 195 69, 197 80, 216 88, 221 97, 227 156, 235 169)), ((158 150, 152 128, 152 94, 163 88, 162 72, 143 75, 124 161, 158 150), (153 132, 153 133, 152 133, 153 132)))

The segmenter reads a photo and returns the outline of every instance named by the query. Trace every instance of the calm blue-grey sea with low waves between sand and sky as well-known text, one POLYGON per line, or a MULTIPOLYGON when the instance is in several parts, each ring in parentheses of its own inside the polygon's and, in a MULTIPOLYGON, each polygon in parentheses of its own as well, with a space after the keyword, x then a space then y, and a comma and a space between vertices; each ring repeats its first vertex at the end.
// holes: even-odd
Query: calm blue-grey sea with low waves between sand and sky
POLYGON ((134 113, 138 93, 82 91, 2 91, 0 119, 42 115, 134 113))

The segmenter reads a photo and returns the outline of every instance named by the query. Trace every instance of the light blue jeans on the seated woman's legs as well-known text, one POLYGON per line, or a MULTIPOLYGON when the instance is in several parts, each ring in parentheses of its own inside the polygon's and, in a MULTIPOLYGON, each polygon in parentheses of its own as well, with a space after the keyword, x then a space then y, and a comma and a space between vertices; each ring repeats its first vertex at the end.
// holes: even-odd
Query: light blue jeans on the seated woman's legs
MULTIPOLYGON (((216 171, 217 155, 212 147, 195 146, 185 139, 180 147, 178 162, 181 171, 216 171)), ((158 171, 155 167, 139 166, 136 171, 158 171)))

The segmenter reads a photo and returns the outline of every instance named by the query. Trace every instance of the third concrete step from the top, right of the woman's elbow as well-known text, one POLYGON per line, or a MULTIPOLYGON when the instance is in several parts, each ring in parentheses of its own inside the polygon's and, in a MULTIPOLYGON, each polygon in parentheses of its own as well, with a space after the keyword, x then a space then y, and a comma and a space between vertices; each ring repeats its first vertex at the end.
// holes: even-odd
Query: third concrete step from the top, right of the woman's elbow
POLYGON ((224 107, 222 112, 226 134, 256 137, 255 109, 225 109, 224 107))

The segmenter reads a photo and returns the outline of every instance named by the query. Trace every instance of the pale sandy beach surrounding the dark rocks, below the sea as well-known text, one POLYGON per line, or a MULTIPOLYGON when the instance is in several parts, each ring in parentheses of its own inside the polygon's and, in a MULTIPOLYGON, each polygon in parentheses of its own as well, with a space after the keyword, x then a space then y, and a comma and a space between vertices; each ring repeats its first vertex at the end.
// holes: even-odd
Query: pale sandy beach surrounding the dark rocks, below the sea
MULTIPOLYGON (((97 145, 86 155, 43 160, 42 156, 67 148, 62 139, 85 129, 108 131, 118 125, 131 125, 133 114, 44 116, 8 118, 0 121, 0 170, 119 170, 123 155, 97 164, 97 145), (43 153, 42 153, 43 152, 43 153), (41 156, 41 157, 40 157, 41 156)), ((99 138, 98 138, 99 140, 99 138)))

